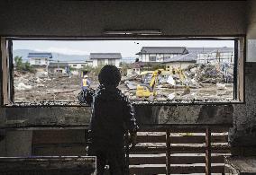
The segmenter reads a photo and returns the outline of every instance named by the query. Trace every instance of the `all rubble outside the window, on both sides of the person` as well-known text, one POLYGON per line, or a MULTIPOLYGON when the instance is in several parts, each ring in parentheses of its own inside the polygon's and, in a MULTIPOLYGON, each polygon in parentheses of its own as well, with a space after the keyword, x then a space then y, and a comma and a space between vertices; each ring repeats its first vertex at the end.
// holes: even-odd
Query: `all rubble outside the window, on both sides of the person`
MULTIPOLYGON (((137 85, 150 83, 151 74, 144 76, 132 74, 123 76, 118 88, 131 101, 204 101, 232 100, 233 74, 232 66, 195 65, 184 71, 185 79, 180 74, 160 74, 156 86, 157 95, 152 98, 136 97, 137 85), (229 67, 227 70, 226 67, 229 67)), ((96 89, 97 75, 88 74, 96 89)), ((81 77, 46 73, 14 72, 14 101, 77 101, 81 91, 81 77)))

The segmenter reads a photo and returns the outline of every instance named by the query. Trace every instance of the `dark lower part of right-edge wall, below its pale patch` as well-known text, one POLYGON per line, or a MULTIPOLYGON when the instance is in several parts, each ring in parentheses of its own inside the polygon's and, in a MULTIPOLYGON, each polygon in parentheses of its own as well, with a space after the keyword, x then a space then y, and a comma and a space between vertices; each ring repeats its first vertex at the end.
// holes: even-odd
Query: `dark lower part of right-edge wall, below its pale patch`
POLYGON ((256 155, 256 63, 247 63, 245 72, 245 104, 233 105, 229 138, 239 154, 256 155), (253 152, 247 153, 250 148, 253 152))

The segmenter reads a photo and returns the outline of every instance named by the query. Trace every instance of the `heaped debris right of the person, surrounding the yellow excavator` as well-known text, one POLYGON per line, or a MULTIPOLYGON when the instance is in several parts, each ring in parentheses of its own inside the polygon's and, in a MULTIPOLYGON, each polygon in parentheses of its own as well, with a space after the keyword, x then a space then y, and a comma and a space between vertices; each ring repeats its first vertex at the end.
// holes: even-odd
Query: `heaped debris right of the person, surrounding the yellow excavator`
MULTIPOLYGON (((151 74, 124 77, 129 81, 123 83, 129 92, 125 91, 130 99, 135 101, 149 100, 137 98, 137 84, 150 84, 151 74), (138 78, 140 77, 140 78, 138 78)), ((188 66, 173 74, 172 71, 163 71, 158 77, 155 87, 157 95, 154 101, 173 100, 233 100, 233 66, 220 64, 188 66)))

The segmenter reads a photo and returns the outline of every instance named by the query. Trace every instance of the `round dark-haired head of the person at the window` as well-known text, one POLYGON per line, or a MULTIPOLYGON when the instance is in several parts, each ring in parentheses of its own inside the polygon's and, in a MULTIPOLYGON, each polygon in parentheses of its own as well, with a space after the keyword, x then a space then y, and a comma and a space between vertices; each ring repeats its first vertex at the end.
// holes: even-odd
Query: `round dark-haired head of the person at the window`
POLYGON ((117 87, 118 83, 121 81, 120 71, 116 66, 106 65, 100 70, 98 81, 106 86, 114 85, 117 87))

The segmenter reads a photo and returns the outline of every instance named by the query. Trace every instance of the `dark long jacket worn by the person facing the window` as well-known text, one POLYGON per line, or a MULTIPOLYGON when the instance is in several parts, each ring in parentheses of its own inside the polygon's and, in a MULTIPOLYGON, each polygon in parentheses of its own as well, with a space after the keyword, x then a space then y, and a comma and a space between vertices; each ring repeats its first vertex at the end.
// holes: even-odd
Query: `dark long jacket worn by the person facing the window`
POLYGON ((123 147, 125 132, 137 132, 133 106, 116 87, 100 85, 87 93, 87 102, 92 102, 92 144, 123 147))

